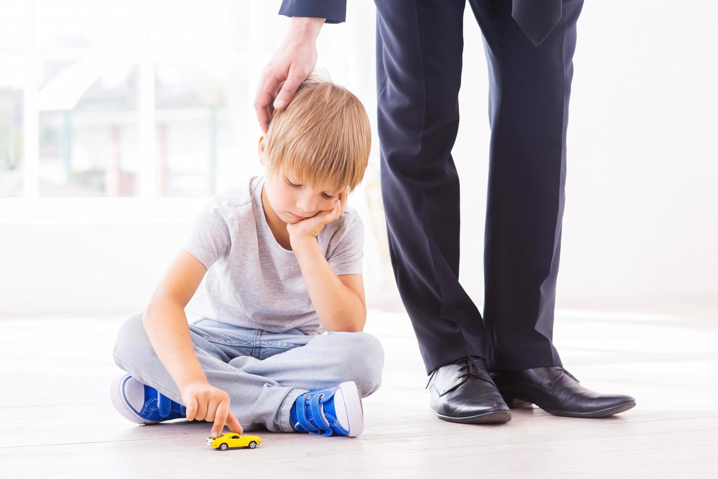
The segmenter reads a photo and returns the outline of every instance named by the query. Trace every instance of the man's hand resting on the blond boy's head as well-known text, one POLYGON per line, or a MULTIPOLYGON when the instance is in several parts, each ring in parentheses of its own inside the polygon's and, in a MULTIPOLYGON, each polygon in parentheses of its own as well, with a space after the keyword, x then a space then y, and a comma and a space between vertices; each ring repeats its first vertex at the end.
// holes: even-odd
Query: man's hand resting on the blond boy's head
POLYGON ((323 18, 293 17, 284 43, 264 68, 254 98, 254 109, 265 134, 274 109, 285 108, 294 98, 299 85, 314 71, 317 36, 324 22, 323 18))

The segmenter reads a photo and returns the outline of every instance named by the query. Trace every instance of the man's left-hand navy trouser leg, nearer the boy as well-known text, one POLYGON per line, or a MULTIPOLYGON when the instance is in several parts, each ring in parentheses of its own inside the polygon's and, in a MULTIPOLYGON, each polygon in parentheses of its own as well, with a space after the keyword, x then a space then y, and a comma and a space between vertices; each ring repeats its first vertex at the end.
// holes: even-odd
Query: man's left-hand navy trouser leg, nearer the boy
POLYGON ((426 372, 485 356, 459 283, 459 126, 465 0, 376 0, 378 133, 389 253, 426 372))

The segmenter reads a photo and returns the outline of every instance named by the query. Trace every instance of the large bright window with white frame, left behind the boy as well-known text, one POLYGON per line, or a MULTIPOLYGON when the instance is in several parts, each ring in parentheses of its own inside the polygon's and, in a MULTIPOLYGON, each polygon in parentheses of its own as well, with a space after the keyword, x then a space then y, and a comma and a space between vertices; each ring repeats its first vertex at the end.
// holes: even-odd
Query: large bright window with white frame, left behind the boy
POLYGON ((258 134, 248 18, 276 19, 259 3, 0 0, 0 197, 231 185, 258 134))

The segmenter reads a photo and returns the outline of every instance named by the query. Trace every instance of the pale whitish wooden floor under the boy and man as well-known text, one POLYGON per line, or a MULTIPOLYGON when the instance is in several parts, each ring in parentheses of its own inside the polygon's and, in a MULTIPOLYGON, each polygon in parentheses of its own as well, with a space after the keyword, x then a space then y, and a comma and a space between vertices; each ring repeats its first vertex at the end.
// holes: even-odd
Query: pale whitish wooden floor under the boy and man
POLYGON ((204 444, 207 423, 137 426, 108 399, 122 317, 0 320, 0 477, 718 477, 718 301, 587 304, 557 312, 564 366, 638 406, 605 419, 515 409, 507 424, 437 419, 408 318, 373 310, 382 388, 355 439, 260 432, 256 450, 204 444), (642 305, 641 305, 642 304, 642 305))

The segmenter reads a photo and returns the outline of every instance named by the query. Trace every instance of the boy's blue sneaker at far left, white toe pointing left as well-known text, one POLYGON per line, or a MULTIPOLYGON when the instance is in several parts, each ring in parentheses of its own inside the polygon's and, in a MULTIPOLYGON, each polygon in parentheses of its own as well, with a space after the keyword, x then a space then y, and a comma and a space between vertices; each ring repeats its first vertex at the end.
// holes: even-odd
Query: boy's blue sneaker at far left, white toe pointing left
POLYGON ((154 424, 187 417, 187 408, 172 401, 157 389, 126 374, 118 377, 110 389, 112 404, 126 419, 136 424, 154 424))

